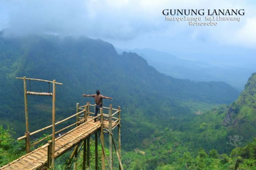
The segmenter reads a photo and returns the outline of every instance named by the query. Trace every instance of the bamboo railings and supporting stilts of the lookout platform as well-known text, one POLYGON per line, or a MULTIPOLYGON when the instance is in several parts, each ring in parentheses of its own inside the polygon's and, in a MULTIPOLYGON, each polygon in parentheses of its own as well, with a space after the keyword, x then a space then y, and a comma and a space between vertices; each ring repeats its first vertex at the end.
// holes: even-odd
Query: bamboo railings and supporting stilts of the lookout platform
MULTIPOLYGON (((43 142, 45 141, 47 138, 49 137, 53 137, 53 134, 54 134, 54 137, 55 137, 55 134, 58 134, 59 132, 62 132, 63 130, 66 130, 70 127, 73 127, 73 126, 76 126, 74 128, 72 128, 71 130, 69 130, 68 132, 65 132, 64 134, 62 134, 61 136, 59 136, 58 138, 53 138, 54 139, 54 142, 56 142, 57 140, 61 139, 63 136, 67 135, 67 134, 70 134, 71 132, 73 132, 74 130, 84 126, 85 124, 87 123, 90 123, 90 124, 93 124, 91 123, 92 120, 94 119, 97 119, 97 118, 100 118, 100 124, 97 124, 97 125, 94 125, 88 129, 86 129, 84 132, 82 132, 81 134, 79 134, 78 136, 75 136, 74 138, 72 138, 71 140, 67 141, 65 144, 62 144, 62 146, 58 146, 58 148, 54 148, 54 142, 52 140, 48 140, 48 143, 44 144, 42 147, 40 148, 48 148, 47 150, 47 164, 46 164, 46 167, 47 169, 50 169, 52 168, 52 163, 54 161, 54 156, 56 156, 56 154, 60 154, 61 152, 63 152, 63 150, 60 152, 61 149, 65 148, 65 146, 68 146, 68 148, 70 148, 70 143, 72 143, 74 140, 76 140, 77 138, 83 136, 84 134, 86 133, 95 133, 97 135, 97 132, 99 132, 99 128, 101 127, 101 133, 100 133, 100 141, 101 141, 101 144, 102 144, 102 169, 105 169, 105 160, 106 162, 108 163, 108 166, 109 166, 109 169, 113 169, 113 148, 112 146, 114 146, 114 150, 116 151, 116 155, 118 157, 118 162, 119 162, 119 166, 120 166, 120 170, 123 170, 123 167, 122 167, 122 163, 121 163, 121 145, 120 145, 120 107, 118 107, 118 109, 112 109, 112 105, 110 105, 110 107, 102 107, 100 109, 100 114, 98 114, 96 117, 94 117, 94 113, 90 112, 90 106, 91 107, 95 107, 95 105, 90 105, 90 103, 88 102, 86 105, 83 105, 83 106, 80 106, 79 107, 79 104, 77 103, 76 104, 76 113, 74 113, 73 115, 65 118, 65 119, 62 119, 61 121, 58 121, 57 123, 55 123, 54 125, 60 125, 61 123, 64 123, 64 122, 67 122, 68 120, 70 120, 71 118, 74 118, 76 117, 76 122, 75 123, 71 123, 70 125, 66 126, 66 127, 63 127, 61 128, 60 130, 57 130, 55 132, 55 127, 54 127, 54 132, 52 134, 49 134, 48 136, 45 136, 44 138, 41 138, 40 140, 37 140, 35 141, 34 143, 30 144, 30 136, 34 135, 34 134, 37 134, 39 132, 42 132, 44 130, 47 130, 51 127, 53 127, 52 125, 49 125, 47 127, 44 127, 44 128, 41 128, 39 130, 36 130, 34 132, 26 132, 24 136, 21 136, 18 138, 18 140, 22 140, 22 139, 25 139, 26 140, 26 152, 27 153, 30 153, 30 146, 35 146, 37 144, 39 144, 40 142, 43 142), (108 109, 108 114, 106 113, 103 113, 103 110, 104 109, 108 109), (114 110, 115 112, 112 113, 112 110, 114 110), (117 117, 114 117, 116 116, 117 117), (90 119, 88 119, 90 118, 90 119), (114 121, 113 121, 114 119, 114 121), (107 127, 108 128, 108 131, 104 131, 104 128, 107 127), (112 131, 114 130, 114 128, 118 127, 118 147, 116 147, 115 145, 115 142, 114 142, 114 138, 113 138, 113 133, 112 131), (92 132, 92 129, 98 129, 98 130, 94 130, 92 132), (106 132, 109 134, 109 149, 110 149, 110 155, 109 157, 106 155, 106 152, 104 151, 104 135, 103 135, 103 132, 106 132), (27 150, 27 148, 29 150, 27 150)), ((87 156, 88 157, 88 141, 89 141, 89 138, 86 138, 84 139, 84 146, 85 146, 85 143, 87 141, 87 156)), ((95 137, 96 139, 96 137, 95 137)), ((98 143, 98 142, 97 142, 98 143)), ((72 144, 74 145, 74 144, 72 144)), ((80 151, 81 149, 81 146, 80 146, 80 149, 78 149, 78 145, 79 144, 76 144, 74 146, 75 147, 75 150, 74 150, 74 155, 75 156, 75 165, 76 165, 76 156, 78 155, 78 152, 80 151)), ((97 144, 98 145, 98 144, 97 144)), ((84 148, 84 150, 86 149, 86 147, 84 148)), ((98 147, 96 146, 95 144, 95 147, 98 147)), ((38 150, 38 149, 36 149, 38 150)), ((32 151, 32 152, 35 152, 36 150, 32 151)), ((98 149, 97 149, 98 150, 98 149)), ((85 151, 84 151, 85 152, 85 151)), ((95 154, 98 154, 98 151, 95 151, 97 153, 95 154)), ((85 157, 84 157, 85 158, 85 157)), ((88 161, 88 158, 86 158, 86 161, 88 161)), ((85 162, 85 160, 84 160, 85 162)), ((95 164, 98 164, 98 160, 95 162, 95 164)), ((40 165, 37 165, 36 167, 34 168, 38 168, 39 166, 42 166, 41 164, 40 165)), ((85 163, 83 163, 83 167, 89 167, 89 163, 87 162, 87 165, 85 165, 85 163)), ((76 166, 75 166, 76 167, 76 166)), ((76 169, 76 168, 75 168, 76 169)))

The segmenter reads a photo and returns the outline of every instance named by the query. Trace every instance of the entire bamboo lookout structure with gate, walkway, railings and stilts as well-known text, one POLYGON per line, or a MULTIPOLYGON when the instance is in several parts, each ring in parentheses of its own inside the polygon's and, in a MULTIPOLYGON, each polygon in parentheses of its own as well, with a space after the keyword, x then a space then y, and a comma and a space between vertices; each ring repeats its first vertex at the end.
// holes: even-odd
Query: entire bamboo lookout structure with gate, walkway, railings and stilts
MULTIPOLYGON (((90 107, 96 107, 96 105, 91 105, 89 102, 86 103, 86 105, 79 106, 79 103, 76 103, 76 113, 71 115, 70 117, 67 117, 66 119, 63 119, 61 121, 58 121, 55 123, 55 97, 56 97, 56 89, 55 85, 59 84, 62 85, 62 83, 57 83, 55 80, 53 81, 47 81, 47 80, 41 80, 41 79, 28 79, 26 77, 20 78, 17 77, 17 79, 23 79, 24 81, 24 103, 25 103, 25 117, 26 117, 26 132, 24 136, 21 136, 18 138, 18 140, 25 139, 26 140, 26 155, 22 156, 18 160, 15 160, 11 163, 9 163, 6 166, 3 166, 0 168, 0 170, 8 168, 8 166, 15 164, 18 161, 22 161, 22 159, 28 161, 28 159, 32 158, 31 153, 39 152, 39 150, 45 150, 47 149, 47 152, 45 153, 45 156, 47 159, 40 160, 40 163, 34 167, 30 167, 30 169, 38 169, 42 167, 47 167, 47 169, 54 169, 54 158, 57 158, 61 154, 65 153, 66 151, 70 150, 71 148, 74 148, 74 151, 72 152, 70 158, 71 160, 74 160, 74 169, 77 168, 77 157, 79 155, 80 150, 83 147, 83 170, 90 168, 90 136, 93 134, 95 135, 95 169, 98 170, 98 136, 100 136, 100 143, 101 143, 101 158, 102 158, 102 170, 106 169, 106 164, 108 164, 108 169, 113 170, 113 146, 116 151, 116 156, 118 158, 119 162, 119 169, 123 170, 122 162, 121 162, 121 131, 120 131, 120 106, 118 106, 118 109, 113 109, 112 105, 110 107, 103 107, 100 108, 100 114, 98 114, 96 117, 94 117, 94 113, 90 112, 90 107), (53 91, 52 93, 39 93, 39 92, 30 92, 26 90, 26 80, 36 80, 36 81, 46 81, 53 84, 53 91), (47 127, 44 127, 42 129, 36 130, 34 132, 29 132, 28 128, 28 105, 27 105, 27 95, 47 95, 52 96, 52 125, 49 125, 47 127), (107 109, 108 114, 104 113, 103 110, 107 109), (113 113, 114 111, 114 113, 113 113), (55 125, 59 125, 60 123, 66 122, 69 119, 76 117, 76 122, 72 123, 71 125, 68 125, 67 127, 64 127, 58 131, 55 131, 55 125), (100 118, 100 121, 97 121, 93 123, 94 118, 100 118), (90 127, 89 127, 90 125, 90 127), (55 135, 63 130, 70 129, 71 127, 75 126, 68 132, 64 133, 62 136, 55 138, 55 135), (42 132, 43 130, 46 130, 48 128, 52 127, 52 134, 45 136, 44 138, 30 144, 30 136, 42 132), (86 128, 87 127, 87 128, 86 128), (114 136, 113 136, 113 130, 114 128, 118 127, 118 147, 116 147, 114 136), (74 133, 75 136, 72 136, 72 132, 83 128, 84 131, 82 133, 74 133), (87 135, 86 135, 87 134, 87 135), (109 135, 109 157, 106 155, 105 152, 105 142, 104 142, 104 134, 109 135), (72 136, 72 139, 66 140, 64 142, 65 136, 68 135, 69 137, 72 136), (36 150, 30 151, 30 146, 36 145, 40 142, 43 142, 47 138, 52 137, 52 140, 48 140, 46 144, 41 146, 40 148, 37 148, 36 150), (79 139, 79 140, 78 140, 79 139), (60 144, 60 141, 62 142, 60 144), (55 146, 55 142, 57 142, 55 146), (63 143, 64 142, 64 143, 63 143), (79 147, 80 145, 80 147, 79 147), (74 159, 73 159, 74 157, 74 159), (44 163, 42 163, 44 162, 44 163)), ((81 130, 79 131, 81 132, 81 130)), ((40 153, 42 154, 42 152, 40 153)), ((33 160, 35 161, 35 160, 33 160)), ((18 163, 21 164, 20 162, 18 163)), ((25 163, 24 163, 25 164, 25 163)), ((26 163, 27 164, 27 163, 26 163)))

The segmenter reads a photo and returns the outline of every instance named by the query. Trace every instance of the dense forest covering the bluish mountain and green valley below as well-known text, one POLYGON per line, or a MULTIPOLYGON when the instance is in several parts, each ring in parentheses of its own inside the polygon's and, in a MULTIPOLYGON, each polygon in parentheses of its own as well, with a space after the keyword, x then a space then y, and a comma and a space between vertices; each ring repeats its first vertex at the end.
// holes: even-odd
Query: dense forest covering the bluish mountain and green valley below
MULTIPOLYGON (((244 150, 255 145, 255 128, 250 124, 255 120, 255 74, 238 97, 238 91, 227 83, 192 82, 164 75, 136 53, 118 54, 112 44, 102 40, 0 36, 0 125, 4 125, 0 130, 8 138, 6 143, 17 146, 13 151, 16 157, 24 148, 11 134, 23 135, 25 126, 23 82, 15 77, 23 76, 63 83, 56 89, 57 121, 74 113, 76 103, 94 103, 92 98, 83 98, 83 93, 100 89, 103 95, 111 96, 113 100, 104 101, 104 105, 121 106, 126 169, 225 169, 236 164, 238 155, 241 161, 253 161, 253 155, 244 156, 252 150, 244 150), (244 117, 250 128, 243 135, 243 143, 251 143, 236 148, 238 154, 234 156, 228 137, 245 133, 245 129, 237 128, 241 121, 234 123, 238 118, 245 120, 244 108, 250 115, 244 117), (232 119, 224 126, 230 110, 234 110, 232 119), (14 129, 8 128, 9 124, 14 129)), ((32 91, 48 91, 47 83, 31 81, 30 86, 32 91)), ((28 103, 32 131, 50 125, 51 98, 29 96, 28 103)), ((0 147, 7 152, 10 148, 3 141, 0 147)), ((1 165, 12 160, 3 157, 1 165)))

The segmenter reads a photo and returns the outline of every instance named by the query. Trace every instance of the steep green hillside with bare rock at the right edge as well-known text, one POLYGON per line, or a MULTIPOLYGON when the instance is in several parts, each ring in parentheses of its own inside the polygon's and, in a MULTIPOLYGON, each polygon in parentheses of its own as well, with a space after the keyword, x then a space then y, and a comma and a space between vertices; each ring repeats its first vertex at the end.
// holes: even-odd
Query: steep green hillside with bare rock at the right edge
POLYGON ((228 127, 230 133, 240 134, 246 139, 255 136, 256 73, 248 79, 244 91, 228 109, 223 125, 228 127))

